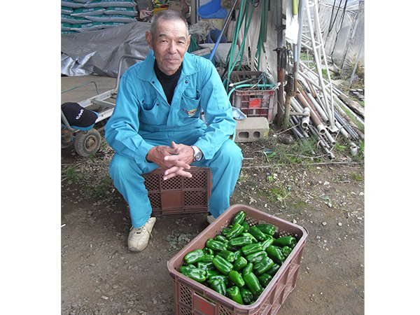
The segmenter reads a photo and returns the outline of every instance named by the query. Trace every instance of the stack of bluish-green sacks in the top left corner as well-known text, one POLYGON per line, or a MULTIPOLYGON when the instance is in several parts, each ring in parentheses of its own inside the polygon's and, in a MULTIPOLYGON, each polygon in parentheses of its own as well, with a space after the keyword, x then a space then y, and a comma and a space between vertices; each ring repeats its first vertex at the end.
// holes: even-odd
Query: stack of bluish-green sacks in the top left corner
POLYGON ((92 31, 136 22, 134 0, 62 0, 62 34, 92 31))

